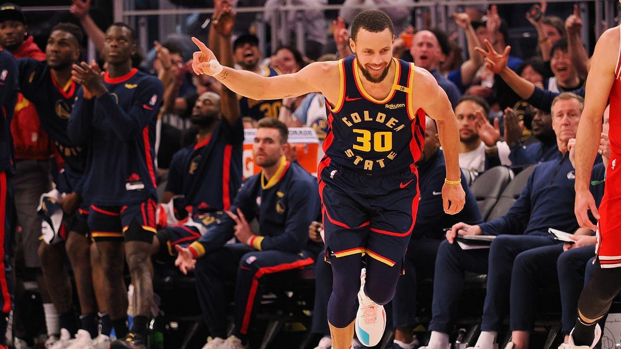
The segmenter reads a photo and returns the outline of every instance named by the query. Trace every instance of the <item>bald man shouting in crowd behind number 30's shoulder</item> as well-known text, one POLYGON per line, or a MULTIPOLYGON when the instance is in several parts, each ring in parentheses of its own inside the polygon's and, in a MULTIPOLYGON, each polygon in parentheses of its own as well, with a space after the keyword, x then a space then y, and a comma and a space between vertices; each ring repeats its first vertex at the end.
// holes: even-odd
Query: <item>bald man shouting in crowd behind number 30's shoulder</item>
POLYGON ((412 48, 410 48, 410 55, 414 58, 414 64, 417 67, 425 68, 433 77, 438 81, 438 85, 446 92, 448 100, 451 101, 451 106, 455 110, 457 101, 460 100, 460 89, 446 79, 445 76, 440 74, 437 67, 445 59, 440 48, 438 38, 429 30, 420 30, 414 34, 414 40, 412 41, 412 48))

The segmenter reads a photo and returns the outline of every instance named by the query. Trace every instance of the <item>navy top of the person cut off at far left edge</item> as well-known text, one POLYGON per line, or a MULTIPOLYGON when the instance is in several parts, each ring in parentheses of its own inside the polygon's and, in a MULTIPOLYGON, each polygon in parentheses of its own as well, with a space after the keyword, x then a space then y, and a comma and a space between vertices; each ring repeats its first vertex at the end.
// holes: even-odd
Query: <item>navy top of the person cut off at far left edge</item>
POLYGON ((14 149, 11 119, 15 111, 17 92, 17 63, 11 53, 0 47, 0 173, 14 173, 14 149))

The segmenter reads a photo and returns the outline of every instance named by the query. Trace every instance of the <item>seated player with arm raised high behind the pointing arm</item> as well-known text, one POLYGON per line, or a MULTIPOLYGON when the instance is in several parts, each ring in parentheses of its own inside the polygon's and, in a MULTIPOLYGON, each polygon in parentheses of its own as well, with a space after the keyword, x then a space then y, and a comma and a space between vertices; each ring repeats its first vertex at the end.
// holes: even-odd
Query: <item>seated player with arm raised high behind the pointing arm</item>
MULTIPOLYGON (((233 17, 220 7, 216 11, 219 20, 209 32, 209 44, 220 48, 216 54, 224 65, 233 66, 233 25, 227 25, 233 17)), ((198 97, 190 118, 198 128, 196 142, 175 153, 171 161, 162 202, 175 197, 173 204, 183 220, 158 231, 154 243, 161 259, 175 256, 175 245, 189 245, 218 222, 242 183, 243 127, 237 94, 226 86, 220 93, 198 97)))

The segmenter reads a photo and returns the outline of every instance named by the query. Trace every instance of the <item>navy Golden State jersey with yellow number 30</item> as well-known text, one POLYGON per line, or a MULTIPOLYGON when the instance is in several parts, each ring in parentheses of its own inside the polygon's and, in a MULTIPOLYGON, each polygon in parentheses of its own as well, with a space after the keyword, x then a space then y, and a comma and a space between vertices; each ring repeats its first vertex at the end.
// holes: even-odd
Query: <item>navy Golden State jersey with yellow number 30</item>
POLYGON ((340 94, 334 107, 326 103, 329 130, 322 166, 334 161, 367 174, 409 171, 420 157, 425 114, 414 110, 414 64, 393 58, 391 92, 382 101, 366 93, 354 56, 339 61, 340 94))

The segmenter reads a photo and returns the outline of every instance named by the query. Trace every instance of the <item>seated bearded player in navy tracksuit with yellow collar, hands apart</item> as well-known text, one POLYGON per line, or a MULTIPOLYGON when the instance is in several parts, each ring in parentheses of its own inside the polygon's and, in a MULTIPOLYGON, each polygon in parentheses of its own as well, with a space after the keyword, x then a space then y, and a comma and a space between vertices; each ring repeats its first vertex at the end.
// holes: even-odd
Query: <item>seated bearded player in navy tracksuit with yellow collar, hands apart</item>
POLYGON ((211 338, 204 349, 248 348, 252 310, 261 300, 259 283, 266 274, 314 263, 317 248, 308 227, 319 215, 317 182, 284 156, 288 130, 277 119, 259 122, 253 145, 255 163, 263 168, 242 184, 220 223, 189 247, 176 246, 175 264, 194 271, 196 289, 211 338), (248 222, 258 220, 259 231, 248 222), (232 237, 238 243, 225 244, 232 237), (227 336, 224 284, 235 281, 235 329, 227 336))

